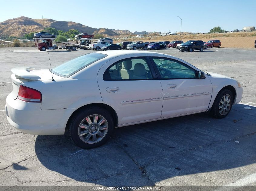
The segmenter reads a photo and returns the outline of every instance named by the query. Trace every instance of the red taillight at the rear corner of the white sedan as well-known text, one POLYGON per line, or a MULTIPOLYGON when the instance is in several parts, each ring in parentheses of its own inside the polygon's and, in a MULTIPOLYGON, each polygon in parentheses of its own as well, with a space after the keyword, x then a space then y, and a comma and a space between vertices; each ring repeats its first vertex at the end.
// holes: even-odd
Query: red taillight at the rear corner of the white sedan
POLYGON ((20 85, 18 99, 27 102, 41 102, 42 94, 40 91, 20 85))

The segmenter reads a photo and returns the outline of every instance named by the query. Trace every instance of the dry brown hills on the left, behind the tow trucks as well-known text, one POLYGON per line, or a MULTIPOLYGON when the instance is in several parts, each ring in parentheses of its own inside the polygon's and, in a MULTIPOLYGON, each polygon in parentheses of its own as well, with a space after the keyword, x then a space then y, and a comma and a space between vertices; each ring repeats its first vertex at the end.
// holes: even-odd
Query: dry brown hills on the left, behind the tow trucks
MULTIPOLYGON (((52 19, 44 19, 45 27, 53 27, 57 30, 68 31, 69 29, 77 29, 79 32, 87 32, 89 34, 100 33, 104 36, 119 36, 125 34, 133 34, 129 30, 112 30, 106 28, 92 28, 80 23, 72 21, 55 21, 52 19)), ((27 17, 18 17, 8 19, 0 23, 1 36, 16 36, 22 37, 26 33, 39 32, 43 30, 42 19, 32 19, 27 17)))

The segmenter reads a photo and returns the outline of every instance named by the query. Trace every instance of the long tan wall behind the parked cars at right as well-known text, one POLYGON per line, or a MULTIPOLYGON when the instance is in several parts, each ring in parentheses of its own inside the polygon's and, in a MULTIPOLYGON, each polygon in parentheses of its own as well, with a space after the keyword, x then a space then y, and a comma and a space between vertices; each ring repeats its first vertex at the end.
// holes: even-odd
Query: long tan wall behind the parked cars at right
MULTIPOLYGON (((179 36, 176 36, 179 37, 179 36)), ((136 40, 142 40, 142 41, 173 41, 174 37, 146 37, 146 38, 138 38, 136 40)), ((254 48, 254 41, 256 37, 217 37, 212 39, 218 39, 221 41, 221 47, 224 48, 254 48)), ((175 40, 183 40, 184 42, 187 42, 188 40, 202 40, 204 42, 207 42, 208 40, 212 40, 211 38, 184 38, 181 36, 181 39, 177 38, 175 40)), ((124 39, 115 39, 114 43, 123 41, 124 39)), ((135 41, 135 39, 131 38, 128 39, 128 41, 135 41)))

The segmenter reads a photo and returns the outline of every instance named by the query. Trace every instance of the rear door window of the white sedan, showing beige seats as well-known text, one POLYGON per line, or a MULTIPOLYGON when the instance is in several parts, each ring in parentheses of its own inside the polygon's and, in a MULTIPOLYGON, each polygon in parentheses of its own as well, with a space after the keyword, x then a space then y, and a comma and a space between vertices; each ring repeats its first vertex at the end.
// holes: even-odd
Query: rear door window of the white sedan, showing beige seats
POLYGON ((145 58, 130 58, 115 62, 103 75, 105 81, 148 79, 152 79, 152 75, 145 58))

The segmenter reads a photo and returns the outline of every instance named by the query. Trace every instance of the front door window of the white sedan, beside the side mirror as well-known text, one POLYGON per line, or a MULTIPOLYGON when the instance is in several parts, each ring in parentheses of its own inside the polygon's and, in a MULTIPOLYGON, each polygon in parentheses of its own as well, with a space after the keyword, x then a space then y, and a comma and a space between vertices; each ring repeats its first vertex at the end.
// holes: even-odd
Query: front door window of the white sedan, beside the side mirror
POLYGON ((161 79, 197 78, 196 71, 182 62, 160 57, 153 57, 152 60, 158 68, 161 79))

